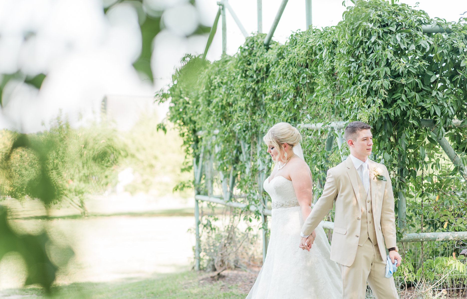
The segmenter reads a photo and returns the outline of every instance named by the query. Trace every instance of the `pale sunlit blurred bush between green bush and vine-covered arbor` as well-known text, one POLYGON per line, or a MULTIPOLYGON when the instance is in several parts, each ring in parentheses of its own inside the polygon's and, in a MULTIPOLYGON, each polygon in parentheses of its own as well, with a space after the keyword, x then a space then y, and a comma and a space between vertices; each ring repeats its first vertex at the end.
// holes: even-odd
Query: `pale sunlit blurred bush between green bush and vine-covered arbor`
POLYGON ((172 124, 167 124, 163 132, 157 130, 158 123, 156 115, 142 114, 130 131, 120 133, 127 155, 119 169, 134 170, 134 180, 125 190, 131 194, 191 197, 192 185, 185 182, 192 173, 185 169, 182 139, 172 124))

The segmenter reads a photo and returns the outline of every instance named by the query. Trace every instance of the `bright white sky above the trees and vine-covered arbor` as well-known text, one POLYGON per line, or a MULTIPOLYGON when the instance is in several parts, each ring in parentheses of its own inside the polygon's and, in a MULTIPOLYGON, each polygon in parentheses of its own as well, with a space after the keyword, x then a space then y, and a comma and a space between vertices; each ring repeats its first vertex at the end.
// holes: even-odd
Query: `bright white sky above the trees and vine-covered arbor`
MULTIPOLYGON (((207 35, 186 38, 196 24, 212 26, 217 0, 197 0, 198 12, 187 0, 144 0, 148 6, 166 9, 165 29, 156 36, 151 62, 156 82, 142 80, 132 63, 141 50, 137 14, 127 3, 107 15, 103 0, 0 0, 0 72, 21 69, 28 76, 45 72, 41 90, 20 82, 3 91, 5 108, 0 128, 23 132, 43 130, 42 123, 67 115, 74 125, 98 120, 105 95, 152 97, 167 85, 185 53, 202 53, 207 35), (35 35, 25 39, 25 33, 35 35)), ((105 0, 112 2, 114 0, 105 0)), ((263 32, 267 33, 281 0, 263 0, 263 32)), ((401 2, 415 6, 414 0, 401 2)), ((465 0, 419 0, 418 9, 430 17, 458 21, 467 11, 465 0)), ((230 0, 248 33, 257 30, 256 1, 230 0)), ((352 5, 347 0, 346 5, 352 5)), ((284 43, 293 31, 305 30, 305 1, 289 0, 274 40, 284 43)), ((336 25, 346 8, 342 0, 313 1, 313 26, 336 25)), ((234 54, 245 38, 227 11, 227 53, 234 54)), ((467 16, 467 14, 465 14, 467 16)), ((207 58, 221 55, 221 21, 207 58)), ((167 109, 167 107, 161 107, 167 109)))

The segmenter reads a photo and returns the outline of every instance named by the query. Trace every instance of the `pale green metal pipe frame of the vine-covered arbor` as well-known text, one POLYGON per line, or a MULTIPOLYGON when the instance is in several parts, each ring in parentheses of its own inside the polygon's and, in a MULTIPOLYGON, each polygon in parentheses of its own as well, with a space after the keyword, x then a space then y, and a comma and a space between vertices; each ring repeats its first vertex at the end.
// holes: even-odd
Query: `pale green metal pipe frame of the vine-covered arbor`
MULTIPOLYGON (((283 11, 287 5, 288 0, 282 0, 281 5, 279 6, 279 9, 277 11, 276 17, 272 23, 272 26, 269 30, 268 35, 266 35, 266 38, 264 40, 264 45, 269 46, 269 43, 271 42, 272 36, 274 35, 274 32, 277 28, 277 25, 281 19, 281 16, 283 14, 283 11)), ((230 14, 233 17, 233 20, 236 22, 237 26, 240 28, 242 34, 245 37, 248 37, 248 33, 241 24, 240 19, 238 16, 235 14, 233 11, 233 8, 230 6, 228 3, 228 0, 222 0, 217 2, 219 5, 219 9, 217 12, 217 15, 215 17, 211 32, 208 37, 208 41, 206 43, 205 51, 203 54, 203 59, 206 58, 206 55, 208 53, 208 50, 211 46, 212 40, 214 38, 214 35, 217 31, 217 25, 219 22, 219 17, 222 16, 222 55, 226 55, 226 44, 227 44, 227 38, 226 38, 226 8, 230 12, 230 14)), ((312 25, 312 18, 311 18, 311 0, 305 0, 305 14, 306 14, 306 26, 309 28, 312 25)), ((258 23, 258 33, 262 33, 262 0, 257 0, 257 23, 258 23)), ((437 25, 422 25, 422 31, 423 33, 441 33, 445 32, 443 28, 437 25)), ((448 29, 446 29, 446 32, 448 32, 448 29)), ((325 144, 325 150, 326 151, 331 151, 333 148, 333 142, 334 139, 337 139, 338 147, 341 149, 341 146, 343 144, 343 129, 346 125, 346 122, 332 122, 328 125, 325 125, 324 123, 317 123, 317 124, 304 124, 301 125, 301 127, 309 130, 328 130, 328 136, 326 139, 326 144, 325 144), (336 133, 337 138, 334 138, 334 133, 336 133)), ((434 126, 434 121, 432 119, 421 119, 421 126, 422 127, 429 127, 432 130, 430 131, 430 134, 432 135, 432 138, 437 140, 439 145, 442 147, 446 155, 449 157, 449 159, 454 163, 454 165, 459 165, 461 170, 461 173, 463 174, 464 177, 467 175, 467 169, 464 165, 461 164, 461 161, 459 157, 456 155, 454 152, 453 148, 451 145, 448 143, 448 141, 444 137, 438 138, 438 128, 434 126)), ((460 127, 461 126, 461 121, 459 120, 453 120, 453 126, 455 127, 460 127)), ((462 127, 466 127, 466 125, 462 125, 462 127)), ((219 133, 218 130, 214 131, 214 134, 219 133), (217 131, 217 132, 216 132, 217 131)), ((202 134, 202 132, 198 132, 198 134, 202 134)), ((244 146, 242 145, 242 149, 244 146)), ((221 176, 221 181, 222 181, 222 190, 223 190, 223 195, 213 195, 212 191, 208 192, 210 194, 206 195, 200 195, 198 189, 196 186, 199 185, 201 182, 202 178, 202 172, 203 172, 203 164, 205 163, 205 160, 203 160, 203 151, 201 151, 201 155, 199 157, 199 160, 196 161, 196 159, 193 160, 193 166, 194 166, 194 182, 195 182, 195 234, 196 234, 196 245, 195 245, 195 270, 199 271, 200 269, 200 238, 199 238, 199 201, 201 202, 212 202, 216 204, 221 204, 227 207, 233 207, 233 208, 240 208, 240 209, 245 209, 247 205, 239 203, 239 202, 231 202, 231 198, 233 195, 233 187, 234 187, 234 181, 235 178, 233 177, 233 168, 231 169, 230 176, 228 178, 228 188, 227 188, 227 177, 224 176, 221 172, 219 172, 221 176), (198 163, 197 163, 198 162, 198 163)), ((341 152, 342 153, 342 152, 341 152)), ((345 156, 341 154, 341 160, 344 160, 345 156)), ((210 189, 212 190, 212 159, 210 160, 210 165, 209 165, 209 173, 211 173, 210 180, 208 181, 208 185, 210 185, 210 189)), ((261 161, 259 161, 261 163, 261 161)), ((258 174, 258 186, 260 188, 259 194, 262 194, 262 183, 265 180, 265 170, 263 169, 262 172, 258 174)), ((316 198, 315 200, 317 200, 316 198)), ((267 253, 267 246, 268 246, 268 240, 267 240, 267 216, 271 216, 271 210, 266 209, 267 207, 267 198, 262 198, 261 199, 262 206, 256 207, 256 209, 259 209, 262 214, 262 223, 263 223, 263 229, 262 229, 262 245, 263 245, 263 262, 264 259, 266 258, 266 253, 267 253)), ((312 204, 314 205, 314 204, 312 204)), ((398 223, 397 226, 400 229, 405 229, 406 227, 406 199, 403 191, 400 191, 397 194, 397 208, 398 208, 398 223)), ((321 222, 323 228, 325 229, 333 229, 334 223, 328 222, 328 221, 322 221, 321 222)), ((415 233, 415 234, 410 234, 406 233, 403 235, 403 238, 400 240, 400 242, 424 242, 424 241, 443 241, 443 240, 467 240, 467 232, 444 232, 444 233, 415 233)))

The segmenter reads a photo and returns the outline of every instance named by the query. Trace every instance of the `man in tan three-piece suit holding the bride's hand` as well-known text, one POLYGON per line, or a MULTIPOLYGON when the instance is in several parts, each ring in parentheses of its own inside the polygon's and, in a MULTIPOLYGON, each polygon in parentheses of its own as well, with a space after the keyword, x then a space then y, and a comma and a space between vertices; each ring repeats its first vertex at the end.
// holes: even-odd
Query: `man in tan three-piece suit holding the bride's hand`
POLYGON ((364 299, 368 281, 377 299, 398 299, 394 279, 384 277, 386 247, 392 262, 396 259, 397 266, 401 263, 388 170, 368 159, 373 146, 369 125, 351 122, 344 138, 350 155, 328 170, 323 195, 305 220, 299 246, 310 250, 314 241, 311 232, 335 202, 331 260, 340 264, 342 297, 364 299))

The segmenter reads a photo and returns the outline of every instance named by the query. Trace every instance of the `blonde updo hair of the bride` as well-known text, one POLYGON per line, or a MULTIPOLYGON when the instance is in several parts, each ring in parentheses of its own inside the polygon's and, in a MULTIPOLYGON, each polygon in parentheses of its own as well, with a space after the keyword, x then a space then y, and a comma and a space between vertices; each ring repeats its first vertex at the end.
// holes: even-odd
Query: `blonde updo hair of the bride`
MULTIPOLYGON (((284 158, 287 161, 287 153, 283 150, 282 145, 287 143, 293 149, 294 146, 302 141, 302 134, 298 132, 297 128, 293 127, 289 123, 277 123, 269 129, 266 135, 264 135, 263 141, 266 145, 277 148, 279 153, 284 154, 284 158)), ((278 159, 279 157, 277 157, 276 162, 278 159)))

